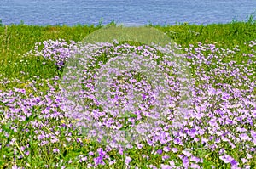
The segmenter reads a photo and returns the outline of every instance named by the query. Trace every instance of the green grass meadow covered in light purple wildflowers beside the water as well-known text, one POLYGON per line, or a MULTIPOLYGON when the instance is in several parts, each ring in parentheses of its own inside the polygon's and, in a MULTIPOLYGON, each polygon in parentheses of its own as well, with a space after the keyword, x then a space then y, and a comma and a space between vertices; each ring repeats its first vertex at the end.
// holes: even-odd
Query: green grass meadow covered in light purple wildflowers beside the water
POLYGON ((73 85, 80 88, 72 93, 61 78, 73 68, 63 68, 71 54, 92 48, 80 42, 102 25, 1 25, 0 168, 256 168, 256 21, 148 26, 177 42, 188 79, 161 52, 168 48, 110 42, 96 44, 100 49, 95 54, 79 60, 84 70, 76 72, 79 79, 73 85), (84 121, 94 121, 96 129, 125 131, 160 113, 154 109, 161 105, 158 93, 147 77, 132 70, 104 83, 111 94, 109 106, 102 107, 95 76, 120 54, 160 64, 166 76, 165 118, 150 124, 150 131, 140 128, 140 139, 126 143, 114 132, 102 144, 104 131, 92 139, 84 132, 84 121), (132 104, 128 116, 119 117, 111 108, 131 107, 129 87, 141 100, 132 104), (65 101, 78 95, 82 113, 65 101), (182 101, 187 106, 178 110, 182 101), (179 111, 183 118, 174 127, 179 111))

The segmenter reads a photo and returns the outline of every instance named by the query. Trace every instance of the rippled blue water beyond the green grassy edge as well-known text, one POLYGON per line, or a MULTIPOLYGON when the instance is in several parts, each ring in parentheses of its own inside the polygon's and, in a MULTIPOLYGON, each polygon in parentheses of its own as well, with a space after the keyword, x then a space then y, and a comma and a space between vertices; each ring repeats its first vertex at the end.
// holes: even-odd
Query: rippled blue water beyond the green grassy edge
POLYGON ((208 25, 247 20, 256 0, 1 0, 3 25, 208 25))

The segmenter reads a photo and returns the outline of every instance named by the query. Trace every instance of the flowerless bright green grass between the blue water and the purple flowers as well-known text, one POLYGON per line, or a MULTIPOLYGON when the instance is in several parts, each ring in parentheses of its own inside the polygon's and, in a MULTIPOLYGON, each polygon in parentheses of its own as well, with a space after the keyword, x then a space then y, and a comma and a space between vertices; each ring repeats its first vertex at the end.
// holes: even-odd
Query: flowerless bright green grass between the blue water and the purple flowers
MULTIPOLYGON (((112 24, 113 25, 113 24, 112 24)), ((235 48, 241 46, 241 51, 236 53, 236 61, 241 62, 240 54, 247 53, 248 48, 243 47, 244 42, 256 39, 256 23, 232 22, 230 24, 213 25, 148 25, 163 31, 177 44, 189 48, 189 44, 215 43, 219 48, 235 48)), ((79 42, 91 32, 100 29, 102 26, 76 25, 63 26, 38 26, 38 25, 2 25, 0 26, 0 72, 4 77, 22 77, 20 71, 28 72, 32 76, 48 78, 54 70, 52 66, 42 66, 44 59, 26 57, 20 63, 22 54, 30 51, 36 42, 45 40, 65 39, 67 42, 73 40, 79 42), (25 64, 26 63, 26 64, 25 64)))

